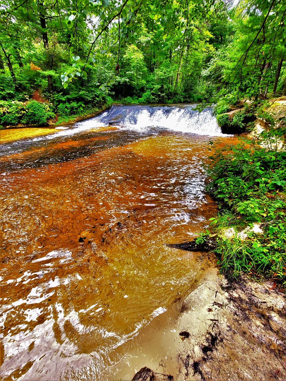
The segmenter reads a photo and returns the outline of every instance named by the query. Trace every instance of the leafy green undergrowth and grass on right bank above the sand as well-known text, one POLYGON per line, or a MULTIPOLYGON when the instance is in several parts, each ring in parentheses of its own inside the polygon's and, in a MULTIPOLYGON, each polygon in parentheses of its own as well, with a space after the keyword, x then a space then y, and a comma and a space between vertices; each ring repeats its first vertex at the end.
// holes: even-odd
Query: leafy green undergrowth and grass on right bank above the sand
MULTIPOLYGON (((285 133, 285 131, 282 131, 285 133)), ((281 129, 262 136, 265 148, 246 138, 236 146, 216 148, 210 157, 207 191, 219 203, 211 219, 217 234, 215 254, 221 272, 247 272, 286 284, 286 152, 274 144, 281 129), (254 233, 256 224, 262 232, 254 233), (232 235, 225 234, 231 229, 232 235), (248 228, 246 239, 240 232, 248 228)), ((212 144, 212 142, 210 142, 212 144)))

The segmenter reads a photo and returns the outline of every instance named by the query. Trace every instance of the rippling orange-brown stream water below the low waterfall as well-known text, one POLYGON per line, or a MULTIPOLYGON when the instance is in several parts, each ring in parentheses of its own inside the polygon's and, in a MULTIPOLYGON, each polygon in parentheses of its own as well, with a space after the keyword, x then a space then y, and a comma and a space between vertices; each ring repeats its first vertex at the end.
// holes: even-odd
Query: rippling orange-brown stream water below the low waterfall
POLYGON ((194 253, 165 244, 193 239, 215 213, 210 137, 138 128, 140 112, 0 146, 4 380, 103 379, 122 344, 196 282, 194 253))

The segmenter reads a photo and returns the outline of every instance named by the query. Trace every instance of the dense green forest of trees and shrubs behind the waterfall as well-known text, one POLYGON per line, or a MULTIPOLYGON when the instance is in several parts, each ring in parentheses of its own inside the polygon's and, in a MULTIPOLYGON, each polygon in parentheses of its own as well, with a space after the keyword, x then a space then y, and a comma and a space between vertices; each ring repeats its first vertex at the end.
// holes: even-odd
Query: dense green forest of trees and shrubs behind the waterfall
POLYGON ((4 0, 0 122, 285 95, 285 16, 282 0, 4 0))

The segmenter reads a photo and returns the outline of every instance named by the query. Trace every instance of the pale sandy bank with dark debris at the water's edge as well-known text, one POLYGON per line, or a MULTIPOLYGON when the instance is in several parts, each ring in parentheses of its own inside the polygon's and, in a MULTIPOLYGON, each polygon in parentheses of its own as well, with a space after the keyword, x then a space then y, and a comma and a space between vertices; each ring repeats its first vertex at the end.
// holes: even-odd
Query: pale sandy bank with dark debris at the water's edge
POLYGON ((285 295, 246 277, 220 279, 211 263, 204 270, 194 290, 138 337, 135 371, 150 368, 154 381, 285 380, 285 295))

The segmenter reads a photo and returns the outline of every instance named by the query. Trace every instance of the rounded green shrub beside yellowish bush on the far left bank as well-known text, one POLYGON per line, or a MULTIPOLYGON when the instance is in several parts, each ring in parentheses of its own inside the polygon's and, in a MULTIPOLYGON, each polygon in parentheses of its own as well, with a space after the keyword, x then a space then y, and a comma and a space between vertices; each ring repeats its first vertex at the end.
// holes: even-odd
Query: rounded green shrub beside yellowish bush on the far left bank
POLYGON ((51 112, 46 103, 31 101, 26 106, 26 113, 22 118, 24 124, 43 125, 48 119, 54 118, 55 114, 51 112))

